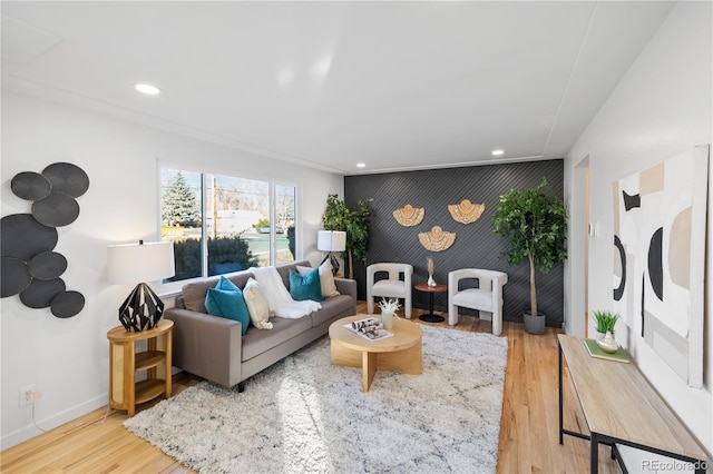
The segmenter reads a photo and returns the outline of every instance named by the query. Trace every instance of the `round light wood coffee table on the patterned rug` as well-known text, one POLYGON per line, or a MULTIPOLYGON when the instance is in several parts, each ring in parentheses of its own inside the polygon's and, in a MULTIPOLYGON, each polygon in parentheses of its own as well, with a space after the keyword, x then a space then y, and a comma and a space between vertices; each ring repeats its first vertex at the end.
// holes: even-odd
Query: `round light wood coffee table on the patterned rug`
POLYGON ((369 340, 344 328, 355 319, 374 315, 355 315, 330 326, 332 364, 362 368, 362 392, 369 392, 377 371, 421 374, 423 371, 421 328, 408 320, 393 320, 392 337, 369 340))

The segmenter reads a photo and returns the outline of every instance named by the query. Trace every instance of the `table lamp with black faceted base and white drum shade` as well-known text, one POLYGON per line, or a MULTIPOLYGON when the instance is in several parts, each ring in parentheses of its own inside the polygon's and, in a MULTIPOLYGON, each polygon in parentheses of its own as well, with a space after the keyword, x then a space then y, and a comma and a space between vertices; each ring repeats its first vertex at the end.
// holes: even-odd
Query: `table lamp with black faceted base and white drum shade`
POLYGON ((136 333, 156 326, 164 315, 164 302, 144 282, 156 282, 176 274, 174 244, 157 241, 110 245, 107 267, 109 283, 141 282, 119 307, 119 322, 126 330, 136 333))

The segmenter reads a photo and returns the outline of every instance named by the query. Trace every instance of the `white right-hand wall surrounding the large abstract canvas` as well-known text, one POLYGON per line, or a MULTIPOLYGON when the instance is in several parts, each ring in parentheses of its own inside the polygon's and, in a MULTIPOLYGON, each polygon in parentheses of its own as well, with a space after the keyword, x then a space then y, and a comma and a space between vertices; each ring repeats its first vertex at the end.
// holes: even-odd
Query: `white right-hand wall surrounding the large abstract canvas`
MULTIPOLYGON (((588 156, 590 167, 589 219, 600 223, 600 235, 589 239, 589 309, 612 308, 613 204, 612 182, 666 158, 713 141, 713 38, 711 2, 678 2, 651 43, 637 58, 595 119, 579 137, 566 160, 565 186, 573 215, 584 209, 582 171, 576 168, 588 156)), ((713 169, 713 168, 712 168, 713 169)), ((711 172, 709 172, 710 181, 711 172)), ((713 211, 709 191, 709 216, 713 211)), ((576 219, 573 219, 576 220, 576 219)), ((580 226, 570 229, 582 239, 580 226)), ((706 280, 713 282, 713 219, 707 221, 706 280)), ((577 247, 582 249, 583 247, 577 247)), ((703 255, 700 258, 704 258, 703 255)), ((580 251, 570 254, 565 276, 572 288, 582 286, 580 251)), ((713 323, 706 284, 704 388, 690 388, 636 335, 617 340, 636 354, 636 363, 678 414, 703 446, 713 446, 713 323)), ((584 313, 582 300, 569 300, 568 327, 584 313)))

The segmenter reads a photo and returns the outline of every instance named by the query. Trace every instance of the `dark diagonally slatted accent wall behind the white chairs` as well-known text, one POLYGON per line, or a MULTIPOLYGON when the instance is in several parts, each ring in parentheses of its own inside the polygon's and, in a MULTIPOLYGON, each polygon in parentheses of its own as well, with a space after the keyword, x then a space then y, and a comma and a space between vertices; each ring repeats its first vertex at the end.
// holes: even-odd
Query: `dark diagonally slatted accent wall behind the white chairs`
MULTIPOLYGON (((543 178, 551 186, 551 192, 563 196, 563 160, 533 161, 510 165, 487 165, 467 168, 433 169, 423 171, 390 172, 344 177, 344 200, 353 207, 359 199, 373 198, 371 203, 371 234, 367 265, 380 261, 402 261, 413 265, 413 283, 426 282, 426 259, 433 258, 437 283, 448 284, 448 273, 458 268, 488 268, 508 274, 504 290, 504 318, 522 320, 522 312, 529 309, 529 266, 522 261, 508 267, 505 258, 498 258, 507 240, 492 234, 492 214, 500 195, 510 188, 536 186, 543 178), (453 220, 449 204, 470 199, 485 204, 480 219, 472 224, 453 220), (392 213, 407 204, 422 207, 426 215, 421 224, 403 227, 392 213), (433 226, 456 233, 455 244, 443 251, 428 251, 419 241, 419 233, 433 226)), ((365 265, 354 263, 354 278, 359 298, 365 299, 365 265)), ((537 273, 538 309, 547 315, 547 325, 560 327, 563 323, 563 266, 549 274, 537 273)), ((413 306, 428 308, 428 295, 413 290, 413 306)), ((446 312, 447 294, 434 297, 437 310, 446 312)), ((475 314, 465 308, 461 314, 475 314)))

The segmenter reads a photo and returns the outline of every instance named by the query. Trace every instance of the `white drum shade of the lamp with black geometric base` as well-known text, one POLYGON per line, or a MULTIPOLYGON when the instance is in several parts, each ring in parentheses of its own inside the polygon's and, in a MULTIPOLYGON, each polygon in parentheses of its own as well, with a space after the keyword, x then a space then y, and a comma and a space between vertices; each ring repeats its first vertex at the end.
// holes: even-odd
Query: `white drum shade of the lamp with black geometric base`
POLYGON ((109 283, 157 282, 176 275, 172 241, 110 245, 107 250, 109 283))

